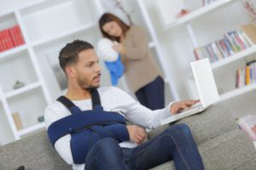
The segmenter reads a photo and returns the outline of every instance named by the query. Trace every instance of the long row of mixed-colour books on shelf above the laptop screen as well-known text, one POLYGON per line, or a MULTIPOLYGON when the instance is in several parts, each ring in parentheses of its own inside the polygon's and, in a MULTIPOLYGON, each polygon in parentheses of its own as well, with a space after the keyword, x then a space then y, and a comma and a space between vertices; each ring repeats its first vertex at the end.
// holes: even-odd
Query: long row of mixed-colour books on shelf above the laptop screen
POLYGON ((195 48, 195 59, 209 58, 211 63, 236 54, 244 49, 253 46, 253 42, 244 31, 230 31, 216 42, 207 44, 204 47, 195 48))

